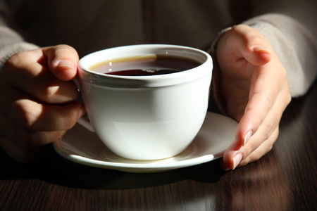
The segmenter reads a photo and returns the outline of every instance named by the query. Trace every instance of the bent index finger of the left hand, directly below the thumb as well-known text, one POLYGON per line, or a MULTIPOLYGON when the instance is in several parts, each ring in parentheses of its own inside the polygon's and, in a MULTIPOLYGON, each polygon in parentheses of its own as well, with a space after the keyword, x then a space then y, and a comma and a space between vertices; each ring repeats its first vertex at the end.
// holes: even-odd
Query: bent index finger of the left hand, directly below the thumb
POLYGON ((62 82, 38 60, 43 60, 39 49, 15 54, 1 72, 1 89, 11 89, 11 84, 20 91, 43 103, 68 103, 78 96, 73 82, 62 82), (4 80, 6 79, 6 80, 4 80))

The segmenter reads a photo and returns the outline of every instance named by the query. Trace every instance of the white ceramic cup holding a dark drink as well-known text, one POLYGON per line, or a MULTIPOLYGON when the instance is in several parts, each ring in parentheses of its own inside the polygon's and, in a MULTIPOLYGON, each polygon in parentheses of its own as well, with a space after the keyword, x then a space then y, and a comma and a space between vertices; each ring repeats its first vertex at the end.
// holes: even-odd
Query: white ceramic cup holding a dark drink
POLYGON ((101 141, 123 158, 159 160, 184 151, 199 132, 208 107, 212 68, 211 56, 199 49, 144 44, 91 53, 80 59, 78 77, 90 124, 101 141), (201 65, 154 76, 89 70, 105 60, 153 54, 191 58, 201 65))

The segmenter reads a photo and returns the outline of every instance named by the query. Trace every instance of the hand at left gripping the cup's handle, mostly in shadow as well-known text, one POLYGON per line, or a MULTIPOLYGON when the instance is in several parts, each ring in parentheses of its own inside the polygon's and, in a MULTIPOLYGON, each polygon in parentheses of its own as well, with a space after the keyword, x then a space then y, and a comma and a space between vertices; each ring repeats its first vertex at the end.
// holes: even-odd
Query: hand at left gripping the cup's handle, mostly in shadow
POLYGON ((77 51, 59 45, 15 53, 0 73, 0 146, 30 162, 60 139, 85 108, 75 102, 77 51))

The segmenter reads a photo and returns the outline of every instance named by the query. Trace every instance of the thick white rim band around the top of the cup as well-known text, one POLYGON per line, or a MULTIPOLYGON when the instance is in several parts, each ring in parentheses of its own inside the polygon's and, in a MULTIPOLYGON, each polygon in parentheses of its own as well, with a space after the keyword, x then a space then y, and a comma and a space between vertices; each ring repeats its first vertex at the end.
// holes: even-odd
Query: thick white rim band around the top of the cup
MULTIPOLYGON (((181 55, 183 56, 183 55, 181 55)), ((129 56, 116 56, 129 57, 129 56)), ((191 58, 191 57, 190 57, 191 58)), ((195 49, 189 46, 170 45, 170 44, 137 44, 130 46, 118 46, 110 49, 104 49, 89 53, 86 56, 80 58, 78 61, 78 77, 80 80, 88 82, 89 84, 95 84, 104 87, 116 87, 116 88, 140 88, 140 87, 163 87, 173 84, 180 84, 200 77, 211 74, 213 69, 212 58, 209 53, 200 49, 195 49), (103 55, 110 55, 108 52, 121 51, 128 52, 129 50, 138 49, 143 51, 140 55, 145 54, 157 54, 158 52, 168 53, 183 53, 184 57, 187 54, 200 57, 201 65, 192 68, 190 70, 175 72, 166 75, 151 75, 151 76, 123 76, 123 75, 106 75, 101 72, 94 72, 89 70, 89 67, 96 63, 101 63, 103 60, 109 60, 109 58, 102 58, 103 55), (93 60, 93 61, 92 61, 93 60)))

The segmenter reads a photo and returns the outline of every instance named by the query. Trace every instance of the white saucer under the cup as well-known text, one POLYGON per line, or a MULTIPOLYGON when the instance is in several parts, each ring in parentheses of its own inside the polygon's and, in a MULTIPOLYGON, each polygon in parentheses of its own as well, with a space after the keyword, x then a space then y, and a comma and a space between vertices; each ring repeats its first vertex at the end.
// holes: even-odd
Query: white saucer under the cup
POLYGON ((54 143, 63 158, 92 167, 123 172, 161 172, 199 165, 220 158, 235 139, 237 122, 216 113, 207 113, 201 130, 182 153, 163 160, 128 160, 112 153, 96 134, 76 124, 54 143))

